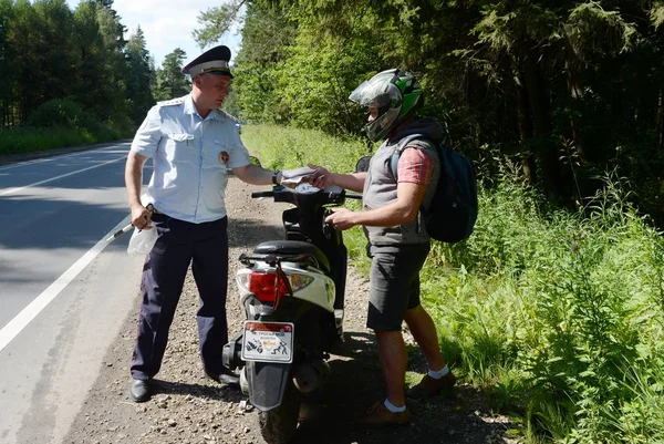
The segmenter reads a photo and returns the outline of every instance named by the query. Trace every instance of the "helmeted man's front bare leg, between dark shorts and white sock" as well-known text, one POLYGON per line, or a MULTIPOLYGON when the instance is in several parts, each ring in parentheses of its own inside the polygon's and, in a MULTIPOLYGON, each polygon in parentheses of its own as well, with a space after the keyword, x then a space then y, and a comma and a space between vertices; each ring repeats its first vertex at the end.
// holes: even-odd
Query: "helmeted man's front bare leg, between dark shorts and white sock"
POLYGON ((387 400, 396 406, 406 405, 406 345, 401 331, 377 331, 381 370, 387 386, 387 400))

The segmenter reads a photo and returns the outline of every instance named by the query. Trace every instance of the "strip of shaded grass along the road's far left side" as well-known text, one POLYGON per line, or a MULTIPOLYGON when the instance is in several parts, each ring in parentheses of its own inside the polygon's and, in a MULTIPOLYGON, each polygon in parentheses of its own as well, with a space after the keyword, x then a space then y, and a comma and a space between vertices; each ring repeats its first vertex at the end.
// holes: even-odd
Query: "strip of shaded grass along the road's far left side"
POLYGON ((132 135, 111 128, 100 128, 95 132, 56 127, 4 128, 0 130, 0 155, 112 142, 132 135))

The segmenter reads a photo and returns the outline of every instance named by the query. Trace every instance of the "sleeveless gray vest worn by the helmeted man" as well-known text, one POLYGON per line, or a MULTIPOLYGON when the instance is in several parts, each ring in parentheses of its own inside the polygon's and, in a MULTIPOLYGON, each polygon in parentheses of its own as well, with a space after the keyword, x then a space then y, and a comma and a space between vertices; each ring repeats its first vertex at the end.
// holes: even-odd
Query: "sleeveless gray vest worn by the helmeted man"
MULTIPOLYGON (((397 141, 385 141, 372 156, 364 182, 364 192, 362 205, 365 210, 383 207, 396 200, 396 180, 392 174, 390 163, 392 154, 400 143, 406 142, 405 137, 397 141)), ((436 184, 440 177, 440 161, 436 153, 436 147, 428 141, 412 141, 408 147, 419 148, 434 161, 434 171, 422 205, 428 208, 436 184)), ((396 172, 395 172, 396 173, 396 172)), ((372 247, 398 247, 404 244, 424 244, 429 241, 426 233, 422 213, 417 217, 404 225, 394 227, 371 227, 365 226, 365 233, 372 247)))

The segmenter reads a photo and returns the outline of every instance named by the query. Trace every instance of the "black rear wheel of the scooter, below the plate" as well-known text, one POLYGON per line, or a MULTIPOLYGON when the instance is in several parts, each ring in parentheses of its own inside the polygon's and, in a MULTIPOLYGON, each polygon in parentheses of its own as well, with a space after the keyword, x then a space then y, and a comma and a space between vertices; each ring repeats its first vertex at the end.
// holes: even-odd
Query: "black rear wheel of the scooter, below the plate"
POLYGON ((291 442, 298 428, 301 397, 300 391, 295 389, 292 381, 289 381, 281 404, 267 412, 258 412, 260 434, 266 443, 288 444, 291 442))

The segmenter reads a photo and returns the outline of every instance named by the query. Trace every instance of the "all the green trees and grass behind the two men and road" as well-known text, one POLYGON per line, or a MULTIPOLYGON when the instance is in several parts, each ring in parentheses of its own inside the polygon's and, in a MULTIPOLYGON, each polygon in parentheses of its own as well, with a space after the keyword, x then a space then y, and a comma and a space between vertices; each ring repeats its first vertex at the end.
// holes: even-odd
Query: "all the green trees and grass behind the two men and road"
MULTIPOLYGON (((226 109, 267 167, 350 171, 374 148, 350 92, 395 66, 422 81, 481 188, 470 239, 434 245, 425 303, 510 433, 664 442, 664 1, 231 0, 196 38, 238 20, 226 109)), ((112 0, 0 0, 0 154, 131 135, 188 91, 186 55, 155 70, 112 0)))

